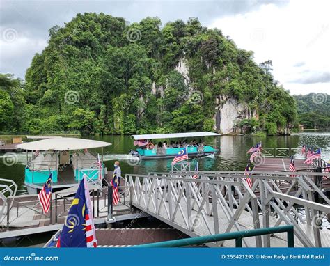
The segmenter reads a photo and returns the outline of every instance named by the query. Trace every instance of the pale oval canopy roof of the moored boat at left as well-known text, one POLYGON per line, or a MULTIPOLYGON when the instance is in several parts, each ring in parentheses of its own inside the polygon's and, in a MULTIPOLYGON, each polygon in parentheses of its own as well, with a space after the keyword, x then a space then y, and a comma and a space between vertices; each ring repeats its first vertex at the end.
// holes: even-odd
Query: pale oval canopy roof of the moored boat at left
POLYGON ((109 145, 111 145, 109 142, 94 141, 92 139, 55 138, 22 143, 18 144, 16 147, 22 150, 83 150, 101 148, 109 145))

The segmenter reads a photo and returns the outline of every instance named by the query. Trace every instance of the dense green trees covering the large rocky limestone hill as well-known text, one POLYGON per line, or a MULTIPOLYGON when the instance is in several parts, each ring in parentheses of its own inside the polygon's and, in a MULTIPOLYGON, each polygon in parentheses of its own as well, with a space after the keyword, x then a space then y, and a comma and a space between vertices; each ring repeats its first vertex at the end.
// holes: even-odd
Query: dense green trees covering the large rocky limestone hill
POLYGON ((25 82, 1 75, 0 131, 212 131, 216 99, 227 95, 258 114, 237 126, 276 134, 293 127, 297 110, 271 70, 272 61, 257 65, 253 52, 196 18, 162 26, 157 17, 127 24, 102 13, 78 14, 49 30, 25 82), (181 58, 189 84, 175 70, 181 58), (196 102, 191 90, 202 99, 196 102))

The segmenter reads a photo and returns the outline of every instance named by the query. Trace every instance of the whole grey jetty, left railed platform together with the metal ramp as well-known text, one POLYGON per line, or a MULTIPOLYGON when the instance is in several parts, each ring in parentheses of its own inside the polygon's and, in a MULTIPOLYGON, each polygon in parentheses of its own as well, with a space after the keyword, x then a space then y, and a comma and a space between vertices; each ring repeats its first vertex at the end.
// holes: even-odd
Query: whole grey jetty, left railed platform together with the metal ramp
MULTIPOLYGON (((330 173, 297 172, 291 177, 253 172, 251 188, 244 172, 200 171, 193 179, 195 174, 125 175, 118 205, 112 205, 108 187, 90 189, 95 224, 152 216, 189 237, 293 225, 295 247, 330 247, 330 231, 322 227, 322 219, 329 219, 330 201, 313 182, 315 176, 330 178, 330 173), (316 196, 324 204, 315 202, 316 196)), ((55 192, 50 213, 42 214, 36 195, 2 197, 0 239, 62 228, 72 200, 72 194, 55 192)), ((285 233, 258 235, 244 238, 242 245, 287 247, 288 239, 285 233)), ((207 246, 235 247, 235 240, 207 246)))

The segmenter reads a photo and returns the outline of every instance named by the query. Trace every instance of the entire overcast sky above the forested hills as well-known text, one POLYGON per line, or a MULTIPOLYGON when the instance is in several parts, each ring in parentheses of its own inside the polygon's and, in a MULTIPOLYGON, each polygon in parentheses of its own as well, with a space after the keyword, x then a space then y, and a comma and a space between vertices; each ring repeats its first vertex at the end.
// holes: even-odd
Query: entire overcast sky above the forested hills
POLYGON ((48 29, 77 13, 96 12, 139 22, 198 17, 221 29, 256 63, 271 59, 274 77, 292 94, 330 92, 330 1, 5 1, 0 0, 0 72, 24 79, 33 55, 47 45, 48 29))

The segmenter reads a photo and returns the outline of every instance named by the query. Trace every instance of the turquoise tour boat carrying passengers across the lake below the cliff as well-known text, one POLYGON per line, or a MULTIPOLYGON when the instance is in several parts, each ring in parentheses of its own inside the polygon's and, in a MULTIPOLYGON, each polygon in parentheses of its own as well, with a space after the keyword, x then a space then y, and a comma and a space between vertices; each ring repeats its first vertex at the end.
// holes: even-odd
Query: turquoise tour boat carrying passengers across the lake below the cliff
POLYGON ((187 148, 189 157, 217 154, 219 152, 217 148, 205 145, 202 139, 196 141, 196 138, 204 138, 206 136, 220 136, 220 134, 213 132, 188 132, 132 135, 134 145, 138 146, 138 148, 130 150, 129 155, 141 157, 141 159, 171 158, 178 155, 178 152, 185 148, 187 148), (181 139, 181 141, 177 139, 181 139), (154 143, 154 140, 159 142, 155 141, 154 143))

